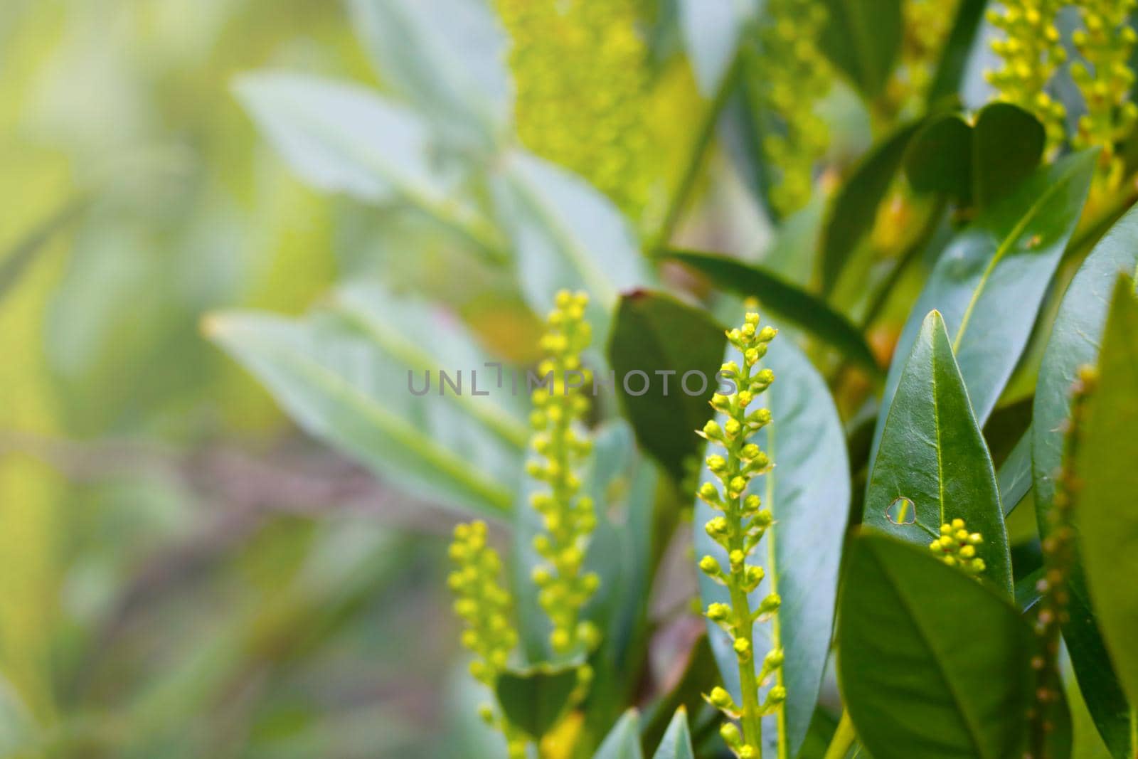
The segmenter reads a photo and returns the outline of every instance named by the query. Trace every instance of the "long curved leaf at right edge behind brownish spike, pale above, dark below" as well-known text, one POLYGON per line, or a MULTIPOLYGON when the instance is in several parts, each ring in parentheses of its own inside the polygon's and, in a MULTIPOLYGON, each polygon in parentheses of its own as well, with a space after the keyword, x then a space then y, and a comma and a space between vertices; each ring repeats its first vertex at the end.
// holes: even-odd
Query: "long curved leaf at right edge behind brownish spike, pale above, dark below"
MULTIPOLYGON (((1070 419, 1070 393, 1085 364, 1097 364, 1111 297, 1120 273, 1138 273, 1138 209, 1131 209, 1095 246, 1071 281, 1055 317, 1039 369, 1032 424, 1032 479, 1040 534, 1048 530, 1055 498, 1054 475, 1063 457, 1063 430, 1070 419)), ((1077 560, 1070 578, 1070 621, 1063 637, 1087 708, 1115 756, 1133 753, 1135 739, 1125 696, 1112 671, 1077 560)))

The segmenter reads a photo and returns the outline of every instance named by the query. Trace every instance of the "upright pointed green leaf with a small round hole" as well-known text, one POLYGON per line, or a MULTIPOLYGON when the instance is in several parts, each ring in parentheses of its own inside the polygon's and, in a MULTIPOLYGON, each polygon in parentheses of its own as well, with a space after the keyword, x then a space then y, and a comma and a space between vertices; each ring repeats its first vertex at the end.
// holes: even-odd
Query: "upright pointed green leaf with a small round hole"
POLYGON ((927 546, 954 519, 981 533, 986 579, 1012 595, 996 472, 972 415, 964 378, 935 311, 921 328, 885 419, 866 490, 863 523, 927 546))

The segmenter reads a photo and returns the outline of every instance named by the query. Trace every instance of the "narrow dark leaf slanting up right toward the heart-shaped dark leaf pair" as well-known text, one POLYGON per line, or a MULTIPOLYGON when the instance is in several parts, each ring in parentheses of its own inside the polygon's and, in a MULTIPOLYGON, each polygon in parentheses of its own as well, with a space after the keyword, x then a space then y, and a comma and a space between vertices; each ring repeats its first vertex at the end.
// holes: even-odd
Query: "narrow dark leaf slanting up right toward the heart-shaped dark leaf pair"
POLYGON ((873 229, 877 206, 897 176, 920 123, 908 124, 874 148, 850 175, 826 214, 822 231, 822 288, 830 292, 851 251, 873 229))

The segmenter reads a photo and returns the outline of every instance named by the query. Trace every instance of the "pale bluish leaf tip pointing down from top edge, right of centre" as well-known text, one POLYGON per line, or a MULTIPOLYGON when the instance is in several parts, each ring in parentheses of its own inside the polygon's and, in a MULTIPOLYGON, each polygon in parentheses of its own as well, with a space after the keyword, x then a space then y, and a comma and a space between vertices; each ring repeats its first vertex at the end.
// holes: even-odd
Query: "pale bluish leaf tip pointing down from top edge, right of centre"
POLYGON ((711 98, 739 50, 752 0, 678 0, 679 30, 700 92, 711 98))

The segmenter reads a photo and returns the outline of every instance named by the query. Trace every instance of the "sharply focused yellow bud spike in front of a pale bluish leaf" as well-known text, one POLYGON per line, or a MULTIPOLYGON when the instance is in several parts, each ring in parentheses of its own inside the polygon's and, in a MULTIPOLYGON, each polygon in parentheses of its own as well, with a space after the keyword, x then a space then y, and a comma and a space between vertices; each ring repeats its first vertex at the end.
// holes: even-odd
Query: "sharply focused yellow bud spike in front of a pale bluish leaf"
POLYGON ((786 699, 782 685, 783 652, 777 635, 773 636, 775 647, 764 657, 758 675, 751 650, 754 624, 770 619, 782 601, 776 593, 770 593, 752 609, 749 599, 766 576, 762 567, 750 563, 751 553, 774 522, 770 511, 762 508, 761 498, 747 490, 753 478, 770 469, 767 454, 749 438, 770 423, 767 409, 751 406, 774 381, 769 369, 757 370, 756 365, 766 355, 775 335, 777 330, 770 327, 760 329, 759 315, 753 313, 747 314, 741 328, 727 332, 728 341, 742 354, 743 365, 729 361, 721 366, 723 377, 734 385, 735 391, 731 395, 717 393, 711 397, 711 407, 724 416, 724 422, 711 420, 699 432, 720 446, 725 454, 707 457, 708 469, 719 480, 719 486, 704 482, 698 495, 718 512, 704 529, 727 558, 726 564, 721 564, 708 554, 700 560, 699 567, 712 580, 726 586, 731 595, 729 604, 711 603, 704 613, 734 641, 743 702, 734 703, 721 687, 712 690, 707 700, 727 717, 740 720, 742 732, 731 723, 721 731, 724 741, 737 757, 759 756, 761 719, 777 712, 786 699), (760 703, 759 686, 772 675, 777 677, 777 684, 760 703))

